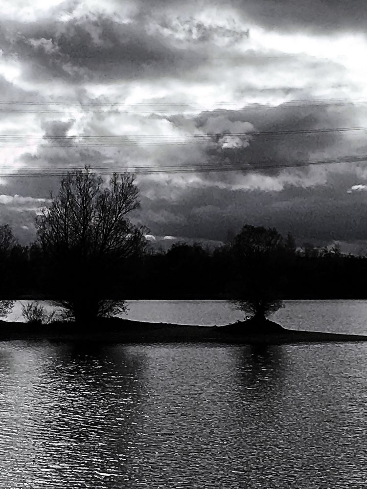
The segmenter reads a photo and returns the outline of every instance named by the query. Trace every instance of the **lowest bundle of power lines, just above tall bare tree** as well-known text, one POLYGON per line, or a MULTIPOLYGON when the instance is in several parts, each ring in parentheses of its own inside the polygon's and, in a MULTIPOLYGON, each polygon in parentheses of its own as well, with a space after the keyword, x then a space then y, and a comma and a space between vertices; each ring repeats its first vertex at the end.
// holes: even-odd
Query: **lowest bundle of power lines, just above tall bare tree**
MULTIPOLYGON (((113 175, 114 173, 122 174, 134 174, 134 175, 147 175, 154 173, 208 173, 208 172, 256 172, 258 170, 273 170, 273 169, 285 169, 285 168, 303 168, 313 165, 326 165, 326 164, 345 164, 345 163, 358 163, 367 162, 367 155, 361 156, 343 156, 340 158, 329 158, 321 160, 308 160, 308 161, 293 161, 283 164, 269 164, 260 163, 250 166, 245 165, 223 165, 220 163, 215 164, 192 164, 187 166, 179 165, 165 165, 158 167, 141 166, 141 167, 91 167, 92 173, 100 176, 113 175)), ((62 177, 66 173, 75 170, 83 170, 83 167, 65 167, 65 168, 29 168, 22 169, 19 172, 3 172, 0 173, 0 177, 62 177), (29 170, 29 171, 28 171, 29 170)))

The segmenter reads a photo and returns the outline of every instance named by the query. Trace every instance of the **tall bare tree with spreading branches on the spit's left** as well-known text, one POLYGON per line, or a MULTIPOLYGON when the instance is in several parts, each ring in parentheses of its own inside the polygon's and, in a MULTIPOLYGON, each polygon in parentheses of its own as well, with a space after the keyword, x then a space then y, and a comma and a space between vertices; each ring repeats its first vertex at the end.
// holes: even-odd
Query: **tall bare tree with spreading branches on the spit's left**
POLYGON ((57 274, 56 304, 77 321, 123 311, 121 266, 145 247, 144 230, 127 218, 139 206, 134 177, 114 174, 106 185, 86 167, 68 173, 50 197, 36 227, 57 274))

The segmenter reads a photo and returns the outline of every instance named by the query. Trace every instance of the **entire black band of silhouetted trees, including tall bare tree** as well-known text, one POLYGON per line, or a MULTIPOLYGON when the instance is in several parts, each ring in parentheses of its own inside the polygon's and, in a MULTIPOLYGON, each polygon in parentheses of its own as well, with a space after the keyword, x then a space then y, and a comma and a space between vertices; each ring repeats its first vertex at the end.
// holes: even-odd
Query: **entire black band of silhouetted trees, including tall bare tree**
POLYGON ((52 300, 78 322, 124 311, 133 298, 226 298, 258 319, 283 299, 366 298, 367 258, 338 246, 299 251, 292 235, 246 224, 214 251, 181 243, 154 252, 129 220, 138 206, 132 176, 106 184, 86 168, 62 179, 30 246, 0 225, 0 315, 24 296, 52 300))

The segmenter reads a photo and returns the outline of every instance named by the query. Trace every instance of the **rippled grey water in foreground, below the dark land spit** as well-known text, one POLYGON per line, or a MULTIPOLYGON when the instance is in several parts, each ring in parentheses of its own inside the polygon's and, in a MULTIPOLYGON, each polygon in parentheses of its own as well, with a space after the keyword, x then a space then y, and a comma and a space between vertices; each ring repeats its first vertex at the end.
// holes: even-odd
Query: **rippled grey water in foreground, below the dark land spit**
POLYGON ((0 487, 367 480, 367 345, 0 344, 0 487))

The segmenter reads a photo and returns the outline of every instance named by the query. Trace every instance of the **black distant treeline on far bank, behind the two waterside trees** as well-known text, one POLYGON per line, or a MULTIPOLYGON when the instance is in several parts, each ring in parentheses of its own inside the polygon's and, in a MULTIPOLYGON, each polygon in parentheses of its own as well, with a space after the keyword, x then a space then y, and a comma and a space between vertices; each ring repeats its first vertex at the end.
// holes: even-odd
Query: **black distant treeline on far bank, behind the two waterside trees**
MULTIPOLYGON (((276 233, 261 227, 243 229, 245 233, 276 233)), ((307 245, 296 250, 288 235, 276 249, 270 246, 266 257, 248 259, 239 266, 236 238, 215 250, 185 243, 173 244, 166 252, 148 247, 127 257, 109 276, 114 274, 116 294, 129 299, 231 299, 241 294, 246 274, 250 287, 259 280, 282 299, 367 297, 366 257, 343 255, 337 247, 307 245)), ((102 280, 96 269, 84 273, 90 274, 94 284, 102 280)), ((0 275, 0 298, 9 299, 54 297, 75 281, 69 270, 50 265, 39 243, 18 244, 8 225, 0 226, 0 275)))

